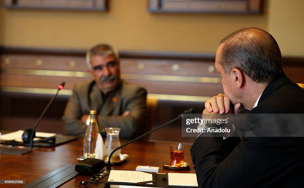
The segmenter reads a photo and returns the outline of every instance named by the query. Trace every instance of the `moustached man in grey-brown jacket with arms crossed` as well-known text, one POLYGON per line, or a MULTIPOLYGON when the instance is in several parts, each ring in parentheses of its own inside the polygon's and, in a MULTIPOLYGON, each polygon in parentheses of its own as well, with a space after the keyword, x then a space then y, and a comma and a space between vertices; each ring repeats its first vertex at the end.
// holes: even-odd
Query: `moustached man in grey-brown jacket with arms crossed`
POLYGON ((119 54, 108 44, 89 49, 86 61, 93 81, 74 86, 62 117, 65 134, 83 136, 90 110, 97 110, 102 135, 105 127, 118 127, 120 138, 135 136, 147 117, 147 91, 120 78, 119 54))

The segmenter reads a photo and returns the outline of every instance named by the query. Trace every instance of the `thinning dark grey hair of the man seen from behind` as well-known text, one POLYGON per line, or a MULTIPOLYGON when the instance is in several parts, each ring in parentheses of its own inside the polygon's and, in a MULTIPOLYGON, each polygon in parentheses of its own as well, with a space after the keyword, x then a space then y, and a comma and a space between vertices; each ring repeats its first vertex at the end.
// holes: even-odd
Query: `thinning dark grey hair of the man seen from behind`
POLYGON ((220 64, 227 78, 234 68, 256 83, 269 83, 284 73, 278 43, 263 29, 239 29, 227 35, 220 44, 223 44, 220 64))

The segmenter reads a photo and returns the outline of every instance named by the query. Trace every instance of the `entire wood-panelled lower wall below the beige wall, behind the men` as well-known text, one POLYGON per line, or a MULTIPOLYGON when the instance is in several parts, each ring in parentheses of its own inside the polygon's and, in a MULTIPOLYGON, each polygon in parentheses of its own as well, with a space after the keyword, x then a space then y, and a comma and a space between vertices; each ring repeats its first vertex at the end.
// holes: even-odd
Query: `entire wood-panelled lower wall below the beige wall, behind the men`
MULTIPOLYGON (((201 113, 206 99, 223 92, 213 69, 214 55, 120 52, 120 56, 122 77, 147 88, 148 97, 159 99, 155 127, 189 108, 201 113)), ((40 131, 62 133, 60 118, 74 83, 91 79, 85 51, 1 48, 0 62, 0 129, 31 128, 52 96, 53 90, 48 89, 65 81, 65 89, 40 127, 40 131)), ((284 58, 284 70, 294 82, 304 82, 303 59, 284 58)), ((180 126, 181 122, 173 123, 150 138, 192 142, 193 138, 181 137, 180 126)))

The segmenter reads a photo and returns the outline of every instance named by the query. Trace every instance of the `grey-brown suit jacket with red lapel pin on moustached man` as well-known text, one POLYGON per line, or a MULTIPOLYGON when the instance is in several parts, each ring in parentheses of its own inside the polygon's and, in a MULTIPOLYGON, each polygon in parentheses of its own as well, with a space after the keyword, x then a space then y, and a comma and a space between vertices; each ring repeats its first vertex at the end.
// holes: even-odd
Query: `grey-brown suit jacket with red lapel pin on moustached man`
POLYGON ((104 101, 95 81, 77 83, 62 117, 65 134, 83 136, 87 126, 81 123, 81 116, 89 114, 90 110, 97 110, 102 135, 105 135, 105 127, 119 127, 119 137, 130 138, 145 124, 146 96, 144 88, 122 82, 104 101), (131 114, 121 116, 126 110, 130 110, 131 114))

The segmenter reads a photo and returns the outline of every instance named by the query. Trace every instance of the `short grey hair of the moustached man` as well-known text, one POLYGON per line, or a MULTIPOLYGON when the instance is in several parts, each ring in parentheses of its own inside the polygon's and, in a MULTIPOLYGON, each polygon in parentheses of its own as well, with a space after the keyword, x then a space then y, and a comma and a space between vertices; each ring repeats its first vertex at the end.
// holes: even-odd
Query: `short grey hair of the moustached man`
POLYGON ((89 49, 85 56, 89 70, 92 70, 91 58, 94 55, 101 55, 101 56, 114 55, 116 61, 119 61, 119 54, 117 49, 115 49, 114 47, 108 44, 98 44, 93 46, 91 49, 89 49))

